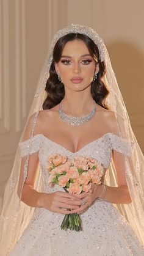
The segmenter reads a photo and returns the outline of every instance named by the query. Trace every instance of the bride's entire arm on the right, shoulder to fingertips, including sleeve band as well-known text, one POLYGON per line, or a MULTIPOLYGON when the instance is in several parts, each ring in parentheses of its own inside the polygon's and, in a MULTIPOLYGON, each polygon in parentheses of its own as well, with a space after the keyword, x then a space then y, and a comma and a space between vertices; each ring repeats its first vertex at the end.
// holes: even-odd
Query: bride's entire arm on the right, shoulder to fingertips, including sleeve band
MULTIPOLYGON (((107 127, 107 131, 111 131, 111 133, 119 135, 117 120, 115 120, 115 115, 112 112, 108 112, 108 116, 106 116, 106 120, 109 120, 108 126, 107 123, 105 127, 107 127)), ((125 129, 124 129, 124 120, 118 115, 118 119, 120 119, 119 125, 121 127, 121 131, 123 132, 123 137, 126 138, 125 129)), ((118 139, 118 138, 117 138, 118 139)), ((125 157, 126 155, 131 155, 131 148, 127 148, 124 141, 118 141, 118 144, 115 143, 115 139, 113 137, 110 138, 110 143, 112 144, 112 159, 113 165, 115 166, 115 171, 117 173, 117 187, 106 186, 106 194, 104 195, 104 200, 110 203, 120 203, 120 204, 128 204, 131 203, 131 196, 129 194, 128 185, 126 182, 126 166, 125 166, 125 157), (130 151, 130 152, 127 152, 130 151), (127 154, 128 153, 128 154, 127 154)), ((92 185, 92 189, 87 193, 83 192, 82 194, 75 195, 79 199, 86 200, 85 205, 81 205, 79 210, 72 211, 72 213, 82 213, 87 207, 89 207, 92 202, 98 198, 103 197, 104 185, 92 185)))

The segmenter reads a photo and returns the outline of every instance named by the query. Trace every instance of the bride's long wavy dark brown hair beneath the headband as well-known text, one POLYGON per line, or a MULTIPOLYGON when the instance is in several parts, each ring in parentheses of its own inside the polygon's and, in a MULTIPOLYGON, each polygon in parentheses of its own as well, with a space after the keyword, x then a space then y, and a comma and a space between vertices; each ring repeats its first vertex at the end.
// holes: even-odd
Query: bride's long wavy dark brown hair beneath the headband
POLYGON ((98 47, 95 45, 93 40, 87 35, 79 33, 70 33, 64 35, 63 37, 59 38, 59 40, 57 40, 57 43, 54 46, 52 64, 49 70, 49 78, 46 82, 45 89, 47 92, 47 97, 43 103, 43 109, 53 108, 54 106, 59 104, 65 96, 65 87, 63 83, 60 82, 58 79, 54 64, 55 62, 59 62, 65 44, 69 41, 73 41, 76 39, 84 41, 90 55, 98 60, 99 72, 97 74, 97 79, 91 84, 92 98, 97 104, 99 104, 103 108, 109 109, 109 107, 106 106, 106 103, 104 102, 105 98, 109 94, 109 90, 107 89, 106 85, 102 80, 104 74, 106 73, 106 66, 104 62, 101 62, 98 47))

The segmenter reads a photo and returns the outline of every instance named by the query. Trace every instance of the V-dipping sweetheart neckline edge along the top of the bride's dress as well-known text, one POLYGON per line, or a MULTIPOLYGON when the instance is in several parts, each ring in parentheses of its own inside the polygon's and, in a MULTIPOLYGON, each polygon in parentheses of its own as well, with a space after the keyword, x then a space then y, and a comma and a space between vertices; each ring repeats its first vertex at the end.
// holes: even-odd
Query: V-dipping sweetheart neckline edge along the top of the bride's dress
MULTIPOLYGON (((110 133, 110 132, 109 132, 109 133, 105 133, 105 134, 103 134, 101 137, 98 137, 97 139, 93 139, 93 141, 88 142, 86 145, 84 145, 82 148, 80 148, 80 149, 77 150, 76 152, 71 152, 70 150, 68 150, 68 148, 64 147, 63 145, 60 145, 59 143, 57 143, 57 142, 55 142, 55 141, 52 141, 51 139, 49 139, 49 137, 46 137, 46 136, 45 136, 44 134, 42 134, 42 133, 37 133, 37 134, 35 134, 33 137, 42 136, 42 137, 44 137, 46 140, 48 140, 49 142, 51 142, 52 144, 58 145, 59 147, 65 149, 65 151, 71 153, 71 155, 75 155, 76 153, 81 152, 82 150, 84 150, 84 148, 88 147, 89 145, 92 145, 94 142, 99 141, 99 139, 102 139, 104 136, 107 136, 108 134, 113 134, 113 135, 115 135, 115 136, 117 136, 117 137, 120 137, 120 136, 118 136, 117 134, 114 134, 114 133, 110 133)), ((33 138, 33 137, 32 137, 32 138, 33 138)), ((32 139, 32 138, 31 138, 31 139, 32 139)), ((123 137, 121 137, 121 138, 123 138, 123 137)), ((124 139, 124 138, 123 138, 123 139, 124 139)), ((29 141, 29 139, 28 139, 27 141, 29 141)), ((23 142, 22 142, 22 143, 23 143, 23 142)))

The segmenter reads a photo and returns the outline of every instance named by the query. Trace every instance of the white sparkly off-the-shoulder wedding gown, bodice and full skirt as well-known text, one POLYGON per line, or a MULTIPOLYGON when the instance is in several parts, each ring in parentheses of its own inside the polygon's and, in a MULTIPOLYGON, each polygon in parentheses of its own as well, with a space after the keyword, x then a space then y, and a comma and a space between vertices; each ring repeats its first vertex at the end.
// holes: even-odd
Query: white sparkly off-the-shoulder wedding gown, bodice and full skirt
MULTIPOLYGON (((106 133, 73 153, 62 145, 51 141, 43 134, 20 142, 21 156, 39 152, 45 192, 64 191, 58 185, 48 185, 47 158, 54 153, 74 156, 92 156, 105 168, 112 159, 112 150, 131 155, 126 139, 106 133)), ((120 212, 106 201, 95 201, 81 214, 82 231, 62 230, 64 214, 53 213, 45 208, 35 208, 34 215, 24 230, 10 256, 142 256, 144 248, 120 212)))

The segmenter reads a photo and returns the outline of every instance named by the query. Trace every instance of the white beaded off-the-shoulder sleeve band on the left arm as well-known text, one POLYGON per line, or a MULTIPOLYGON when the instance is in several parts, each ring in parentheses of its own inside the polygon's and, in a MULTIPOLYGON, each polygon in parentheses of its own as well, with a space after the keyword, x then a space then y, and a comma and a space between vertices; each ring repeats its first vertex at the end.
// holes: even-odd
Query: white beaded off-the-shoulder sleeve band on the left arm
POLYGON ((19 142, 19 148, 21 156, 31 155, 32 153, 38 152, 41 145, 40 134, 31 137, 27 141, 19 142))

